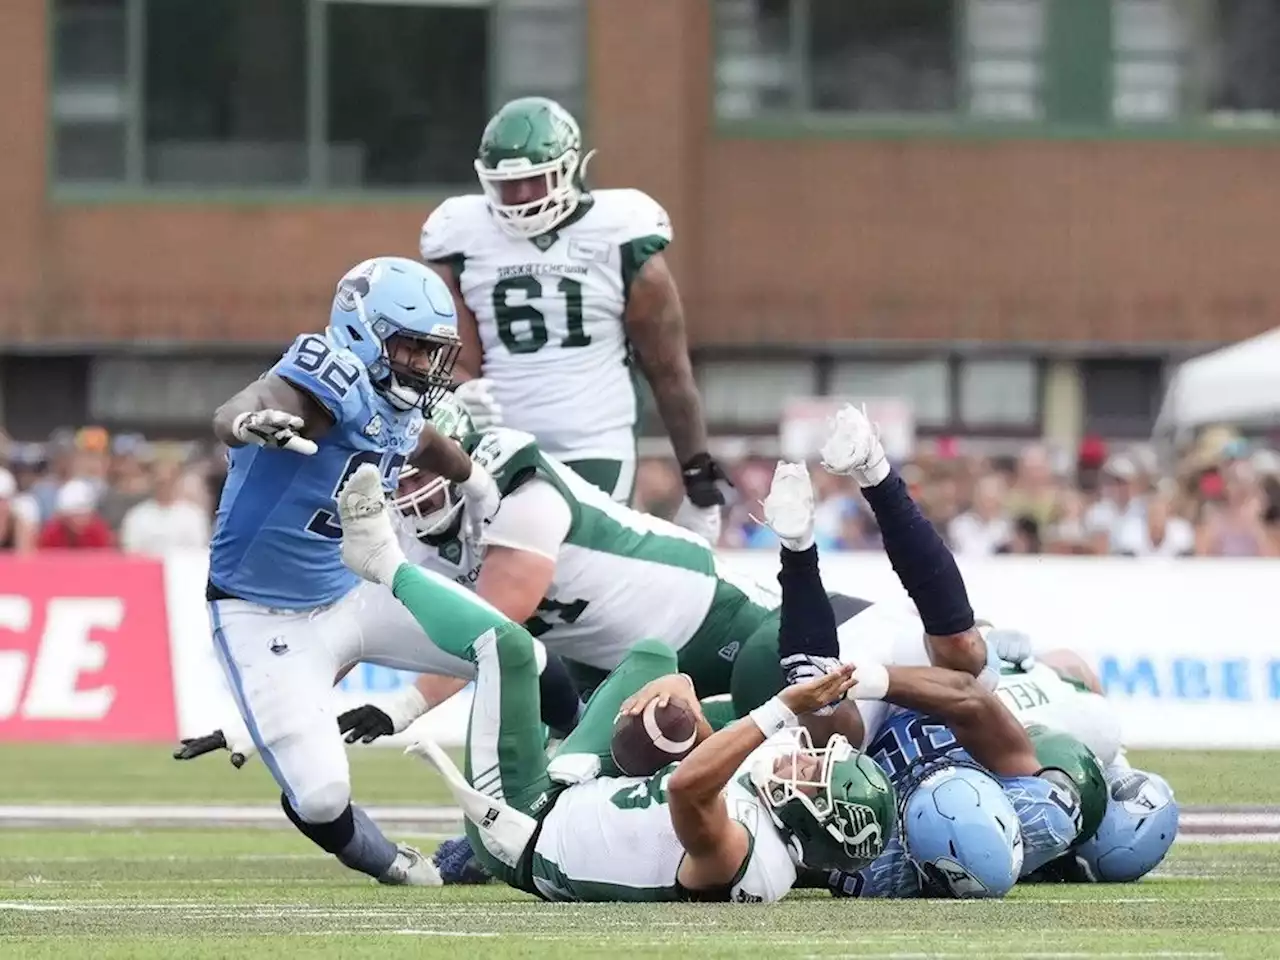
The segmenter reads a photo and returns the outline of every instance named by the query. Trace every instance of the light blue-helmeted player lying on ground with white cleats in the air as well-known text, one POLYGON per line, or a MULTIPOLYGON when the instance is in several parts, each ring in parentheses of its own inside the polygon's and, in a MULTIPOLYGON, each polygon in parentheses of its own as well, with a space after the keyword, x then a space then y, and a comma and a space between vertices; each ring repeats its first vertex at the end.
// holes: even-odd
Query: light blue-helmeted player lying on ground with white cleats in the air
MULTIPOLYGON (((865 460, 860 448, 876 445, 861 413, 850 410, 841 420, 858 428, 845 431, 855 443, 847 451, 828 443, 827 465, 865 460)), ((837 429, 833 436, 840 435, 837 429)), ((954 671, 884 666, 874 644, 841 641, 818 571, 813 486, 804 465, 778 465, 763 507, 782 540, 781 667, 797 677, 826 673, 841 659, 855 663, 859 684, 851 696, 868 753, 899 795, 900 827, 884 855, 854 876, 805 879, 859 896, 1002 896, 1021 873, 1065 852, 1080 829, 1082 791, 1065 771, 1046 769, 1050 764, 991 691, 954 671), (886 710, 886 704, 892 707, 886 710)), ((774 677, 778 671, 762 666, 774 677)), ((1093 769, 1101 805, 1101 771, 1093 769)))

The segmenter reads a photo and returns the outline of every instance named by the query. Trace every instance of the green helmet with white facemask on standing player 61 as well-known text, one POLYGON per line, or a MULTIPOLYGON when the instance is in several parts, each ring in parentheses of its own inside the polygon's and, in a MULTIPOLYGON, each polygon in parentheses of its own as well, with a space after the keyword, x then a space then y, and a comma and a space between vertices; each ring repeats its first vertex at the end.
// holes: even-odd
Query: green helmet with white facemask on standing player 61
POLYGON ((563 223, 582 202, 582 132, 563 106, 547 97, 521 97, 493 115, 475 161, 489 209, 512 237, 531 239, 563 223), (521 202, 504 200, 503 184, 541 178, 543 189, 521 202))

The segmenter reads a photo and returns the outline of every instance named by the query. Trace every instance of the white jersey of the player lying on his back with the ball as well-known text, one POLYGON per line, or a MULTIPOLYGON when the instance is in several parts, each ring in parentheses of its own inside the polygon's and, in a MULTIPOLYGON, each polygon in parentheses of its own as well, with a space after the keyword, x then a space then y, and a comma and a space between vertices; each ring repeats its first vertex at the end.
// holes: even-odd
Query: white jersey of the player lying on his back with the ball
MULTIPOLYGON (((783 731, 787 732, 787 731, 783 731)), ((739 904, 781 900, 796 881, 790 849, 746 781, 756 748, 724 787, 728 815, 750 835, 750 847, 726 899, 739 904)), ((676 883, 685 849, 667 806, 667 781, 677 764, 653 777, 602 777, 556 799, 534 846, 534 883, 549 900, 681 900, 676 883)))

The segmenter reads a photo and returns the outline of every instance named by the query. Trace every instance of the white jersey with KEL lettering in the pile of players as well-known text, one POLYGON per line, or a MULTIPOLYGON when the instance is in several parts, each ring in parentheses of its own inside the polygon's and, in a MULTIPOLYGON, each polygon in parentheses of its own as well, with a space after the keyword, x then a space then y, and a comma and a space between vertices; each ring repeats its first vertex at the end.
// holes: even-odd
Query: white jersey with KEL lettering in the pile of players
POLYGON ((1029 671, 1005 669, 996 695, 1024 727, 1043 724, 1070 733, 1105 767, 1120 753, 1120 721, 1106 698, 1064 680, 1044 663, 1029 671))

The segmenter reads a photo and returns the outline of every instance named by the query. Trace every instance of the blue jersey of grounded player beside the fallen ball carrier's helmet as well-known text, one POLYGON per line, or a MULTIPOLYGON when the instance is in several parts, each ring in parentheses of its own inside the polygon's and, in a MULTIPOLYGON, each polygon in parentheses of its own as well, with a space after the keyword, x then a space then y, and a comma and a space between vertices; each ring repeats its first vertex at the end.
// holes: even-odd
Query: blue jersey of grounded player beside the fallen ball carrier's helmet
MULTIPOLYGON (((919 764, 947 756, 974 763, 956 742, 955 733, 936 718, 914 710, 893 713, 867 749, 901 791, 919 764)), ((1080 805, 1041 777, 996 777, 1009 796, 1023 832, 1023 869, 1027 877, 1061 856, 1080 832, 1080 805)), ((906 856, 901 837, 895 836, 869 867, 844 874, 833 887, 837 896, 914 897, 923 893, 920 874, 906 856)))

